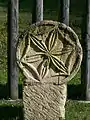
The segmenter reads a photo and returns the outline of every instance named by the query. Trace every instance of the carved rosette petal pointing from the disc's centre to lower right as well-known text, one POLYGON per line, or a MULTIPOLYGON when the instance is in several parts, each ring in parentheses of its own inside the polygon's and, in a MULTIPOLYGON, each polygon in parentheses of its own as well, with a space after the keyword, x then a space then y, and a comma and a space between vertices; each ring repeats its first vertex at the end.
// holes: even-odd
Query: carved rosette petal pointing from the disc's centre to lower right
POLYGON ((60 70, 61 72, 63 72, 65 75, 68 75, 68 70, 65 67, 63 61, 61 61, 60 59, 58 59, 56 56, 51 55, 51 61, 54 64, 54 66, 60 70))

